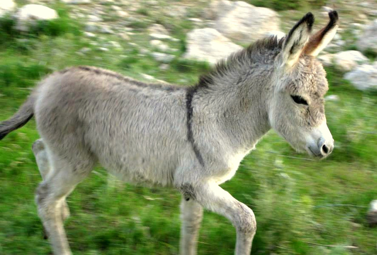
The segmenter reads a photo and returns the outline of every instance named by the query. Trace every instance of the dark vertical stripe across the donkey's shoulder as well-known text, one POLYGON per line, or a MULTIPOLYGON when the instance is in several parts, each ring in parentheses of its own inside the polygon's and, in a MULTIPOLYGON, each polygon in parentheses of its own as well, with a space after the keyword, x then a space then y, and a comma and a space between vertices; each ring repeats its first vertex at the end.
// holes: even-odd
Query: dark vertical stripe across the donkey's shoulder
POLYGON ((193 129, 192 129, 192 120, 193 120, 193 97, 197 92, 198 87, 187 88, 186 91, 186 110, 187 110, 187 140, 190 141, 191 146, 193 147, 194 153, 198 158, 199 163, 204 166, 204 160, 202 154, 200 153, 197 145, 195 144, 193 129))

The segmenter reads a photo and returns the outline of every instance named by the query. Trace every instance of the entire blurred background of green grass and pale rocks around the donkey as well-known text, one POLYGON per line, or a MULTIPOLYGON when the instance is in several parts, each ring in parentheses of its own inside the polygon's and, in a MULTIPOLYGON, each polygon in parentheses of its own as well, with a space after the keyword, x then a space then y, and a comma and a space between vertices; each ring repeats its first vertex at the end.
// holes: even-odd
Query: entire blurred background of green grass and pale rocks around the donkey
MULTIPOLYGON (((0 0, 0 120, 36 82, 72 65, 145 81, 193 85, 219 59, 306 12, 315 30, 337 10, 340 29, 321 53, 330 84, 323 161, 270 131, 222 187, 252 208, 254 254, 376 254, 377 2, 355 0, 0 0), (263 8, 260 8, 263 7, 263 8)), ((0 141, 0 253, 51 254, 34 204, 41 181, 31 151, 34 120, 0 141)), ((76 254, 177 254, 178 192, 124 184, 96 168, 68 198, 76 254)), ((199 254, 233 254, 235 230, 206 212, 199 254)))

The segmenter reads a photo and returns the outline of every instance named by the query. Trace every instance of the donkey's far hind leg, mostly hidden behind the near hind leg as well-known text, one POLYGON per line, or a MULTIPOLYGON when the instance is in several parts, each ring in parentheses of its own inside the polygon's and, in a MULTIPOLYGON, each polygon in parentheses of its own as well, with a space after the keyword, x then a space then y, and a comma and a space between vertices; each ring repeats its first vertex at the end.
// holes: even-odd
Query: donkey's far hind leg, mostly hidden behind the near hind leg
MULTIPOLYGON (((42 177, 42 180, 46 180, 48 173, 50 172, 50 163, 47 157, 47 151, 44 147, 42 139, 38 139, 33 143, 32 150, 34 153, 35 161, 37 162, 39 173, 42 177)), ((70 216, 70 209, 67 202, 64 200, 62 205, 61 217, 65 221, 70 216)), ((45 236, 47 237, 47 236, 45 236)))

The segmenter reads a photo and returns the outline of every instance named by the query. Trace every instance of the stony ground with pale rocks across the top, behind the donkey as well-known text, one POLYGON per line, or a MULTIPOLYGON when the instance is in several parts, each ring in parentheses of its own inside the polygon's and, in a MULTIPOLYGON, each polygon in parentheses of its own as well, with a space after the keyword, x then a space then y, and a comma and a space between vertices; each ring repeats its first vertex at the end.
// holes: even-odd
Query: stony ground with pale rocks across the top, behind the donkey
MULTIPOLYGON (((25 2, 25 1, 24 1, 25 2)), ((45 7, 49 0, 30 0, 22 6, 13 0, 0 3, 0 15, 7 12, 17 17, 17 29, 27 31, 35 20, 56 19, 57 13, 45 7)), ((186 52, 180 57, 208 61, 211 64, 253 43, 266 35, 284 36, 303 11, 277 13, 245 2, 181 1, 170 5, 168 1, 114 1, 114 0, 61 0, 72 6, 71 17, 85 23, 84 35, 100 51, 122 49, 124 41, 135 45, 133 37, 149 36, 149 47, 141 47, 168 68, 178 49, 171 42, 179 41, 170 35, 169 22, 185 19, 194 29, 186 34, 186 52), (153 17, 153 18, 152 18, 153 17), (157 18, 156 18, 157 17, 157 18), (166 27, 153 23, 163 20, 166 27), (283 31, 283 32, 282 32, 283 31), (114 35, 108 40, 106 35, 114 35), (115 38, 115 39, 114 39, 115 38)), ((340 16, 340 29, 333 42, 319 56, 324 65, 335 65, 344 77, 359 90, 377 87, 377 3, 374 1, 329 1, 317 14, 318 23, 327 22, 327 12, 336 9, 340 16), (368 57, 369 58, 368 58, 368 57)), ((82 55, 91 48, 77 52, 82 55)), ((151 77, 149 77, 151 78, 151 77)))

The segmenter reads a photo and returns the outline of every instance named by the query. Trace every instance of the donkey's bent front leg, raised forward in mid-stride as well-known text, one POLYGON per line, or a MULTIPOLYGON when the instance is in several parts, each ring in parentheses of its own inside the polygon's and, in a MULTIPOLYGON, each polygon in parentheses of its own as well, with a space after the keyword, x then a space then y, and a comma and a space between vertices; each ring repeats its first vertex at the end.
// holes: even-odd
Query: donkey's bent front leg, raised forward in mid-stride
POLYGON ((237 240, 234 253, 248 255, 257 230, 252 209, 237 201, 216 184, 202 184, 195 187, 195 199, 204 208, 228 218, 236 228, 237 240))

